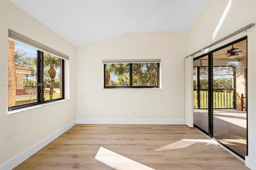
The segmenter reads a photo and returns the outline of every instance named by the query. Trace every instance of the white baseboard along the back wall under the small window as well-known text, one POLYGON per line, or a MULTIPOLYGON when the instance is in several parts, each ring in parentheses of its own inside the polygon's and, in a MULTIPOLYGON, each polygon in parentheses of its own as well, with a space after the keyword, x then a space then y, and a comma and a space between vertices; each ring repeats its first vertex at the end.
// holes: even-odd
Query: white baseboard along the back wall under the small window
POLYGON ((77 119, 76 123, 185 125, 185 119, 77 119))

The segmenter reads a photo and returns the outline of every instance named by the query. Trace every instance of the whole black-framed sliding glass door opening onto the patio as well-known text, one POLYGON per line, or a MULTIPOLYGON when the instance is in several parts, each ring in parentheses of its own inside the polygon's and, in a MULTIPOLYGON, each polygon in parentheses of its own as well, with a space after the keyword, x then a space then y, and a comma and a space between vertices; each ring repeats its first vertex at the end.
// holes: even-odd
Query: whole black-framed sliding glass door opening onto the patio
POLYGON ((194 59, 194 125, 247 155, 247 39, 194 59))

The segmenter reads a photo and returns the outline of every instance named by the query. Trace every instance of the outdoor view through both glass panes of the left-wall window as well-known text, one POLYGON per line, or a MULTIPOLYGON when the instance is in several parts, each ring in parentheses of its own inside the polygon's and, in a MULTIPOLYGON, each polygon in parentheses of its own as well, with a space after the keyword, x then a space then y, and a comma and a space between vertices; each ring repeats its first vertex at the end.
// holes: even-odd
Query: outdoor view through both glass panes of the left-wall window
MULTIPOLYGON (((37 50, 12 40, 8 43, 8 106, 37 102, 37 50)), ((44 100, 62 98, 62 60, 49 53, 43 59, 44 100)))

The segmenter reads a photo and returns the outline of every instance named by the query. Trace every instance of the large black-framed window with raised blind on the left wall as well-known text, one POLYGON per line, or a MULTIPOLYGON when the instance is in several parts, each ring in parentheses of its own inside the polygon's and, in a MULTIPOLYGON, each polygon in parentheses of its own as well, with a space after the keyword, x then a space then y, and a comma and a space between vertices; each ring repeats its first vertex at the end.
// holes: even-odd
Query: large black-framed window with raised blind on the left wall
POLYGON ((64 99, 66 56, 56 54, 59 52, 9 30, 9 111, 64 99))

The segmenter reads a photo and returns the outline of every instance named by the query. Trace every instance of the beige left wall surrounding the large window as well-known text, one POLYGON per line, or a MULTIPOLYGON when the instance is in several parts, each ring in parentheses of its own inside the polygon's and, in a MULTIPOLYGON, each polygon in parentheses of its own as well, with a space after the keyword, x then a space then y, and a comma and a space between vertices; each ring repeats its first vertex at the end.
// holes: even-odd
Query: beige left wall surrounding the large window
POLYGON ((0 25, 1 83, 8 82, 8 28, 70 57, 65 62, 65 95, 70 100, 10 115, 8 87, 0 86, 0 164, 3 164, 76 120, 76 48, 10 1, 0 1, 0 25))

